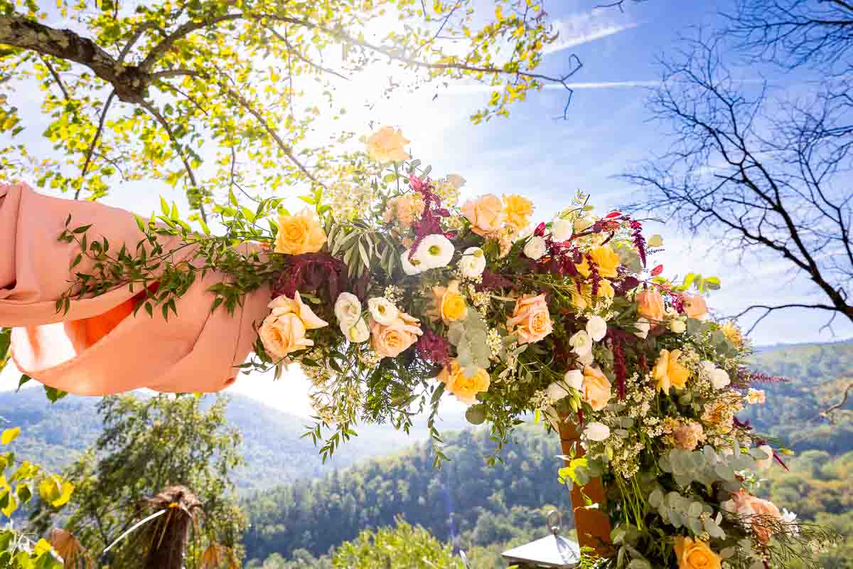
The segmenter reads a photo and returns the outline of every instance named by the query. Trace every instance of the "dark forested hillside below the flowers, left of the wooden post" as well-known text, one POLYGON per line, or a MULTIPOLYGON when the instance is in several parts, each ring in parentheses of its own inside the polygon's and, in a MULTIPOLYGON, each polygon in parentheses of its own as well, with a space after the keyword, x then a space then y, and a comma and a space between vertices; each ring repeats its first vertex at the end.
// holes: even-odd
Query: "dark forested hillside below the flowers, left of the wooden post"
POLYGON ((482 544, 514 537, 514 528, 544 527, 545 504, 567 512, 570 503, 557 481, 560 441, 541 425, 519 428, 516 439, 495 467, 483 458, 494 447, 488 433, 468 430, 445 438, 451 460, 441 470, 432 467, 428 445, 417 444, 322 480, 260 492, 247 501, 248 557, 323 554, 365 527, 392 525, 398 514, 440 539, 470 531, 482 544))

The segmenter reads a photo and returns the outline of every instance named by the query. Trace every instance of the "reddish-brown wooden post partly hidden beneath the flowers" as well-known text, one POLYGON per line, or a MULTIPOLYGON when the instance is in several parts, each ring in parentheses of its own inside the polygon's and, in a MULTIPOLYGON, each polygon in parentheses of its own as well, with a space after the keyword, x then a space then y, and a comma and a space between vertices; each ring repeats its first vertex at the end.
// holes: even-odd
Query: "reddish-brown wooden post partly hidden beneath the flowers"
MULTIPOLYGON (((572 419, 560 417, 560 444, 563 454, 570 456, 572 447, 576 449, 576 456, 583 456, 584 450, 580 443, 580 433, 572 419)), ((566 466, 569 462, 566 461, 566 466)), ((575 526, 577 527, 577 543, 583 547, 595 549, 595 553, 601 557, 612 556, 610 542, 610 518, 607 516, 606 496, 601 479, 592 479, 583 486, 583 493, 593 502, 600 504, 599 508, 584 508, 586 505, 581 496, 581 487, 572 485, 572 509, 574 510, 575 526)))

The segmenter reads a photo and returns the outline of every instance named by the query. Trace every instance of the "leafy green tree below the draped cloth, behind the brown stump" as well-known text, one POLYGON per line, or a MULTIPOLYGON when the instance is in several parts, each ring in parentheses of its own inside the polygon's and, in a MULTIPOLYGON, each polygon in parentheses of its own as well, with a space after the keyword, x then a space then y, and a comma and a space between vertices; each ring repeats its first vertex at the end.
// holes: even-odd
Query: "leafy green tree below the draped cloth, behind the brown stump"
MULTIPOLYGON (((239 549, 246 522, 229 477, 242 462, 240 434, 227 426, 225 405, 218 398, 203 409, 201 399, 192 396, 103 398, 97 407, 103 432, 66 469, 67 479, 77 485, 66 529, 84 549, 100 554, 138 521, 142 499, 184 485, 205 510, 203 531, 189 540, 189 566, 210 543, 239 549)), ((44 493, 41 497, 31 520, 44 531, 57 510, 44 493)), ((133 566, 139 548, 132 536, 119 543, 111 551, 113 566, 133 566)))

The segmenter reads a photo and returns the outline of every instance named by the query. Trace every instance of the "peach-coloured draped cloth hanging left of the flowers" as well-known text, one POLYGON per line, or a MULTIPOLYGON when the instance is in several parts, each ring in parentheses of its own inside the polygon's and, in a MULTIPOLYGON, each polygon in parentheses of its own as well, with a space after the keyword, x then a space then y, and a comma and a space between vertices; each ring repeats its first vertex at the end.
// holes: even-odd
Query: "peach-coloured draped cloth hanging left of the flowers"
MULTIPOLYGON (((56 301, 71 286, 73 272, 91 272, 93 264, 84 257, 69 268, 79 246, 57 240, 69 214, 71 228, 92 224, 89 241, 106 237, 111 251, 125 243, 134 252, 143 237, 130 212, 51 198, 22 183, 0 185, 0 327, 13 328, 18 369, 79 395, 140 387, 218 392, 229 386, 235 366, 252 350, 255 323, 269 313, 269 287, 247 294, 233 315, 223 307, 211 311, 214 296, 207 288, 223 280, 214 272, 196 277, 168 321, 160 311, 132 316, 144 293, 127 286, 73 299, 67 313, 57 312, 56 301)), ((170 248, 169 241, 163 245, 170 248)))

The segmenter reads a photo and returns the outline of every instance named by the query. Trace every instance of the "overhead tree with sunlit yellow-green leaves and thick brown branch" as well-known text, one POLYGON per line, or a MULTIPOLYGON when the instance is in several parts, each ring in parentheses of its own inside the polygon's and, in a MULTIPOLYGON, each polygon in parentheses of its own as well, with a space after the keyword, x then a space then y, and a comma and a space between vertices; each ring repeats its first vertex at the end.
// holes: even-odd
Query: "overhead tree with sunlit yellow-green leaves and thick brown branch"
POLYGON ((543 4, 0 0, 0 131, 10 142, 0 179, 87 199, 119 181, 163 180, 202 219, 229 192, 328 188, 351 167, 339 157, 353 134, 328 140, 316 127, 345 113, 349 79, 371 65, 386 66, 386 95, 427 82, 490 86, 474 123, 544 84, 570 98, 577 58, 562 73, 538 69, 557 38, 543 4), (52 151, 15 143, 27 127, 19 107, 36 104, 52 151))

